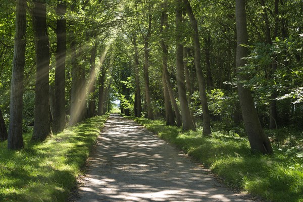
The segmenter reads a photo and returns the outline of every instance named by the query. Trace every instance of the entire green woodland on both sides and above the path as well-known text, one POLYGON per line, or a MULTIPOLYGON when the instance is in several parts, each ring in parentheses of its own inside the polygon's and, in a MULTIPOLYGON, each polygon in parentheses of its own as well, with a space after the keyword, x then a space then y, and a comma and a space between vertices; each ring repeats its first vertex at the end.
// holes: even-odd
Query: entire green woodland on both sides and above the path
MULTIPOLYGON (((43 141, 120 100, 185 130, 303 127, 299 0, 1 1, 0 125, 9 149, 43 141)), ((243 134, 245 135, 245 134, 243 134)))

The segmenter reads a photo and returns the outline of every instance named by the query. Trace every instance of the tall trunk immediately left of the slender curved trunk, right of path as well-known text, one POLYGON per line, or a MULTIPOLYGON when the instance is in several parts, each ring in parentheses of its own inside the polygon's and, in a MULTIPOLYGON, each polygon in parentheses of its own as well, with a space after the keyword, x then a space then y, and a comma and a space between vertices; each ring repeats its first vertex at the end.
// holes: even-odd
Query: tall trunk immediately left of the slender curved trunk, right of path
POLYGON ((183 45, 182 41, 182 1, 176 0, 176 69, 177 69, 177 88, 179 94, 179 102, 181 107, 181 116, 183 123, 183 130, 195 130, 193 120, 190 115, 190 110, 188 107, 186 88, 185 88, 185 78, 184 78, 184 64, 183 64, 183 45))

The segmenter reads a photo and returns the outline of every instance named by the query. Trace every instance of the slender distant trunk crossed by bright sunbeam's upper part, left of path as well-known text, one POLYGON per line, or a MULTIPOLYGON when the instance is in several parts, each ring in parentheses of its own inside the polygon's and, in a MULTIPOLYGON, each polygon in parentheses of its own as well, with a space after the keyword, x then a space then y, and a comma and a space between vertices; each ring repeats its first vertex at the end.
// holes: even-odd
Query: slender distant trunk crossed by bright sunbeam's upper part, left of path
POLYGON ((95 78, 96 78, 96 73, 95 73, 95 57, 96 57, 96 51, 97 51, 97 45, 94 44, 92 50, 91 50, 91 54, 90 54, 90 66, 91 66, 91 70, 90 70, 90 82, 92 82, 93 86, 89 86, 89 100, 88 100, 88 118, 90 117, 94 117, 96 115, 96 101, 95 101, 95 78))

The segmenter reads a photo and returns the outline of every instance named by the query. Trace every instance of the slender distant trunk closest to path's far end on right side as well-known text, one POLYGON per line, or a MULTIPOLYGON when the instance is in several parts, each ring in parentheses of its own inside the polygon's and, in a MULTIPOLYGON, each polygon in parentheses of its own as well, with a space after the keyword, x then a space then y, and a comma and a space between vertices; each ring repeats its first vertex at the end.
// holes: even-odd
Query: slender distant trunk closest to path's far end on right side
POLYGON ((141 104, 141 90, 140 90, 140 77, 139 77, 139 53, 136 45, 136 38, 133 39, 134 44, 134 59, 135 59, 135 80, 136 80, 136 92, 135 92, 135 117, 141 117, 142 104, 141 104))

